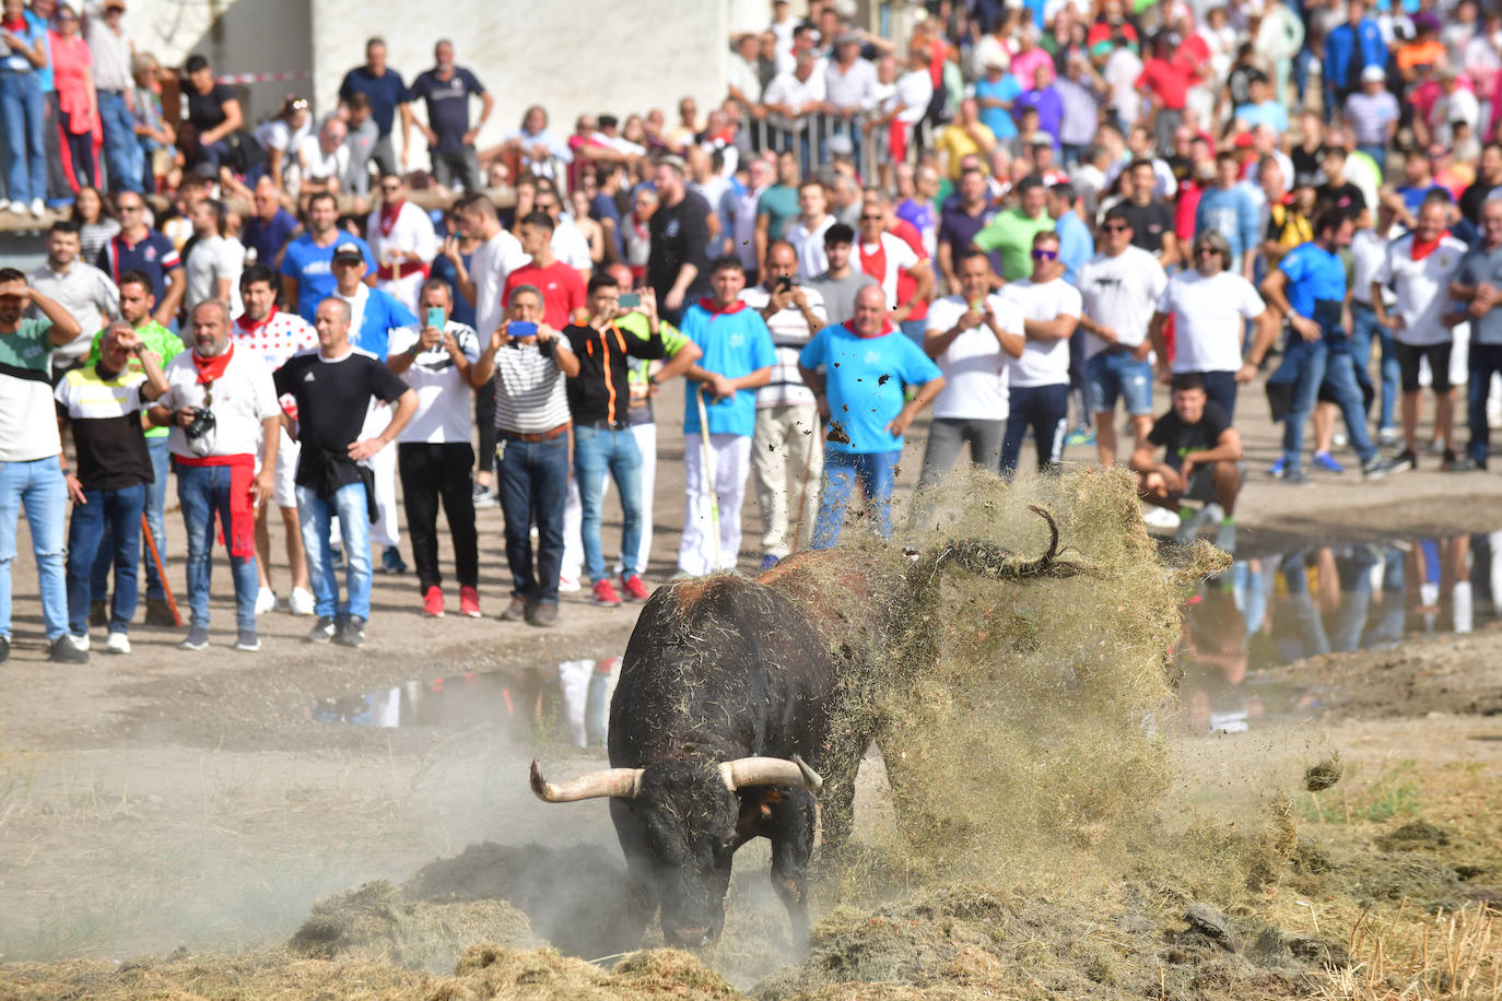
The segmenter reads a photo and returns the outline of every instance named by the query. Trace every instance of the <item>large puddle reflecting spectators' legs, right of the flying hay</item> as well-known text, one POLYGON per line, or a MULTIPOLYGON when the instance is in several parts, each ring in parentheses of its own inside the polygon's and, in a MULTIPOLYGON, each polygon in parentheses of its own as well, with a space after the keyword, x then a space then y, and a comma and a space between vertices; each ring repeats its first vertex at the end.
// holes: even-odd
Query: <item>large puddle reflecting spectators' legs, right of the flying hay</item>
POLYGON ((1280 687, 1259 672, 1485 626, 1502 614, 1502 531, 1236 560, 1191 593, 1184 612, 1179 692, 1194 729, 1236 734, 1317 716, 1317 683, 1280 687))

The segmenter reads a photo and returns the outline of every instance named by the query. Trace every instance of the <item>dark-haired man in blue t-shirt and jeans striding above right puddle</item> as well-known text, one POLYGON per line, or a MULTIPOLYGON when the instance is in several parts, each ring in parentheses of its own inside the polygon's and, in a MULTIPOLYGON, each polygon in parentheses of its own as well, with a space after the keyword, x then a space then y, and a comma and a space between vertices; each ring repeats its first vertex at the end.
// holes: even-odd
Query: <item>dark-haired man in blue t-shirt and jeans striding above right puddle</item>
MULTIPOLYGON (((1289 318, 1283 363, 1268 380, 1269 396, 1289 396, 1283 422, 1283 482, 1307 485, 1304 422, 1314 413, 1323 383, 1346 419, 1346 434, 1367 477, 1386 476, 1392 462, 1377 455, 1367 434, 1367 408, 1350 357, 1350 335, 1341 326, 1346 302, 1346 267, 1337 252, 1350 246, 1353 222, 1346 209, 1328 209, 1314 218, 1314 239, 1278 263, 1262 282, 1262 296, 1275 314, 1289 318), (1281 390, 1277 387, 1283 387, 1281 390)), ((1268 345, 1259 338, 1251 360, 1260 362, 1268 345)))

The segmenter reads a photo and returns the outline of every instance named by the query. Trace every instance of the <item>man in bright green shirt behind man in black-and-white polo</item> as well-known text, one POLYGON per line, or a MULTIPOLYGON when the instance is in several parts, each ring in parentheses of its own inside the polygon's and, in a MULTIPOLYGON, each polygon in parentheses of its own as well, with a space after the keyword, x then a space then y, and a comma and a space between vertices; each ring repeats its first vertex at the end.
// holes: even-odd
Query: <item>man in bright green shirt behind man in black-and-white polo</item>
MULTIPOLYGON (((120 276, 120 318, 135 329, 135 336, 147 351, 161 359, 162 368, 177 357, 183 350, 183 341, 176 333, 156 323, 152 311, 156 308, 156 297, 152 294, 152 279, 146 272, 126 272, 120 276)), ((89 348, 89 366, 99 365, 99 353, 104 345, 101 330, 95 335, 89 348)), ((129 372, 141 372, 141 360, 131 357, 129 372)), ((170 428, 147 428, 146 449, 152 456, 152 471, 155 482, 146 488, 146 524, 152 528, 152 539, 156 542, 156 554, 167 566, 167 530, 162 522, 162 507, 167 503, 167 473, 171 464, 167 452, 170 428)), ((93 576, 89 585, 89 624, 104 626, 110 621, 110 561, 114 557, 110 528, 105 527, 104 539, 99 543, 99 555, 95 558, 93 576)), ((162 576, 156 572, 156 560, 152 549, 141 540, 141 557, 146 560, 146 624, 176 626, 173 609, 167 603, 167 588, 162 576)))

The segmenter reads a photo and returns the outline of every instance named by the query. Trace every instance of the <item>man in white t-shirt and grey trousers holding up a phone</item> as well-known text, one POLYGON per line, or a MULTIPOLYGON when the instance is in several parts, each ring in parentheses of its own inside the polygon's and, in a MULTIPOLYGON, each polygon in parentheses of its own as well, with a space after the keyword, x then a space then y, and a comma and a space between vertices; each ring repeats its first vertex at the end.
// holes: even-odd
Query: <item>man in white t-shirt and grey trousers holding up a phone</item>
POLYGON ((1008 417, 1008 359, 1024 350, 1021 309, 993 294, 996 275, 985 251, 969 248, 955 264, 960 291, 928 306, 924 351, 943 372, 918 489, 933 485, 969 443, 970 462, 1000 468, 1008 417))

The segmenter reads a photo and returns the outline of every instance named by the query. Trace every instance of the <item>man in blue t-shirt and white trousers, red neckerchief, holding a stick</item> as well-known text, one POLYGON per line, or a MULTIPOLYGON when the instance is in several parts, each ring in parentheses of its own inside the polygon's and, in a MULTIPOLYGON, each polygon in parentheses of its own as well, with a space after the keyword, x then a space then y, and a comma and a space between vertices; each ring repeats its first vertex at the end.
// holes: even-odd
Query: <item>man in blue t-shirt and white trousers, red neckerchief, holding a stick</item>
POLYGON ((688 497, 677 546, 680 576, 733 570, 740 555, 740 503, 751 474, 756 390, 772 381, 777 362, 766 321, 740 302, 745 285, 740 258, 721 257, 709 266, 713 294, 691 305, 679 327, 703 351, 685 372, 689 380, 683 407, 688 497), (709 422, 707 441, 698 420, 700 405, 709 422))

